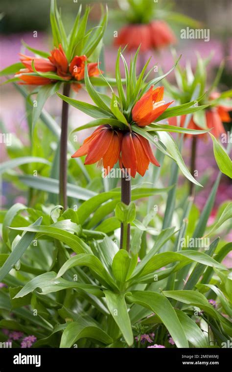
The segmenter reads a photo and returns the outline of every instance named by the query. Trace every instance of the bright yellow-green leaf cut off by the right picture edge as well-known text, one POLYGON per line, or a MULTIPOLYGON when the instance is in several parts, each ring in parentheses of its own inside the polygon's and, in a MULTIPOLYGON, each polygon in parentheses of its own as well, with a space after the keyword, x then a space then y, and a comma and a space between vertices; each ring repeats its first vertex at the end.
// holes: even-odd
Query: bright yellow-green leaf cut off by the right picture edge
POLYGON ((220 171, 232 178, 232 161, 222 145, 210 133, 213 142, 213 153, 220 171))

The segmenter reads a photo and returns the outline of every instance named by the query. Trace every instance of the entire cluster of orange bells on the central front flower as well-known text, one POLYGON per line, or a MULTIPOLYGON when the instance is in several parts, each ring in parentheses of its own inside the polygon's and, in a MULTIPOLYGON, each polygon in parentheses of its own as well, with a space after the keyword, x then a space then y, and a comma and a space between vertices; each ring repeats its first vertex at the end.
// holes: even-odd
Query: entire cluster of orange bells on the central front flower
MULTIPOLYGON (((159 117, 172 103, 164 104, 163 87, 143 94, 132 109, 132 119, 138 126, 149 125, 159 117)), ((160 166, 152 153, 149 141, 133 132, 133 126, 120 130, 110 125, 101 125, 93 134, 84 140, 83 145, 72 155, 72 158, 87 155, 85 164, 93 164, 102 160, 105 176, 119 161, 121 168, 126 168, 132 177, 138 172, 144 176, 149 163, 160 166)))

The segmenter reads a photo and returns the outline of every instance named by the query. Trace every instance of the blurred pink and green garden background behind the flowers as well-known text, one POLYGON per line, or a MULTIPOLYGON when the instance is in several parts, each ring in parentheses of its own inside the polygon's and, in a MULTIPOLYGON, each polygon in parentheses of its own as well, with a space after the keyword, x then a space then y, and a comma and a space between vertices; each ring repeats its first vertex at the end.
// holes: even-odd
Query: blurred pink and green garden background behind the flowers
MULTIPOLYGON (((114 46, 114 32, 125 24, 123 18, 123 9, 126 9, 126 0, 121 0, 120 4, 116 0, 108 1, 75 1, 75 0, 58 0, 58 6, 62 9, 62 17, 64 19, 67 31, 73 23, 80 4, 93 5, 93 10, 90 15, 91 23, 89 27, 96 24, 101 14, 101 4, 108 5, 110 11, 109 23, 107 32, 104 38, 105 62, 104 72, 109 76, 114 76, 115 60, 117 48, 114 46), (119 7, 120 5, 120 7, 119 7), (119 13, 118 13, 119 12, 119 13), (120 17, 121 12, 121 17, 120 17), (118 17, 119 14, 119 17, 118 17), (116 17, 117 15, 117 17, 116 17)), ((154 1, 157 2, 157 1, 154 1)), ((146 6, 146 0, 144 1, 146 6)), ((220 89, 227 90, 232 87, 232 1, 230 0, 176 0, 165 1, 159 0, 157 6, 159 9, 169 8, 170 6, 176 12, 192 17, 200 23, 200 28, 210 30, 209 42, 202 39, 198 40, 183 40, 180 38, 181 29, 185 26, 172 23, 169 25, 172 28, 176 38, 177 55, 182 54, 180 61, 181 65, 185 65, 186 60, 190 60, 194 66, 196 64, 196 52, 202 57, 208 57, 212 52, 213 56, 209 63, 208 76, 211 81, 218 70, 222 59, 225 59, 225 70, 220 81, 220 89)), ((19 52, 31 55, 32 53, 26 50, 22 44, 23 39, 31 47, 49 51, 53 48, 51 32, 49 28, 49 0, 1 0, 0 1, 0 70, 16 63, 19 60, 19 52), (34 31, 37 31, 37 37, 34 37, 34 31)), ((125 52, 125 57, 129 59, 130 52, 125 52)), ((143 53, 144 61, 152 56, 151 66, 157 64, 162 67, 165 72, 173 65, 173 57, 169 48, 162 48, 159 51, 148 50, 143 53)), ((168 79, 174 82, 173 73, 168 76, 168 79)), ((76 98, 76 94, 74 97, 76 98)), ((87 93, 82 89, 78 93, 78 99, 90 101, 87 93)), ((61 101, 58 97, 52 96, 46 102, 45 108, 48 112, 59 121, 61 101)), ((12 84, 7 84, 1 87, 1 113, 0 122, 7 132, 14 133, 14 145, 8 151, 18 151, 23 145, 27 145, 29 141, 29 133, 26 122, 26 114, 24 101, 20 93, 17 92, 12 84), (18 139, 18 141, 17 141, 18 139)), ((89 117, 83 113, 77 112, 73 107, 70 107, 70 129, 76 128, 78 125, 90 121, 89 117)), ((86 132, 83 131, 78 137, 78 141, 82 142, 86 137, 86 132)), ((42 139, 43 140, 43 139, 42 139)), ((2 146, 1 146, 2 150, 2 146)), ((189 144, 186 140, 184 146, 184 158, 189 164, 189 144)), ((7 159, 7 151, 1 151, 1 161, 7 159)), ((218 172, 217 165, 214 161, 211 141, 199 141, 197 169, 199 171, 199 179, 207 173, 209 175, 208 182, 204 189, 198 193, 196 203, 199 209, 202 209, 209 190, 213 185, 218 172)), ((214 211, 225 200, 232 197, 231 180, 223 176, 219 186, 217 198, 214 206, 214 211)), ((11 182, 4 182, 2 187, 1 205, 3 208, 8 208, 15 202, 26 203, 26 191, 13 186, 11 182)), ((213 217, 213 216, 212 216, 213 217)))

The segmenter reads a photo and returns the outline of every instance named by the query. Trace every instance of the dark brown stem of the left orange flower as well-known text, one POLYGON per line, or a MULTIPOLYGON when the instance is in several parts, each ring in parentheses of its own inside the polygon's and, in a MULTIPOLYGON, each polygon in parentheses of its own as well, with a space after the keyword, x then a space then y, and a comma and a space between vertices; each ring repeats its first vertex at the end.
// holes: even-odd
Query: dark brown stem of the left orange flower
MULTIPOLYGON (((70 94, 70 84, 64 84, 63 94, 70 94)), ((63 101, 60 137, 60 175, 59 175, 59 203, 67 209, 67 147, 68 147, 68 115, 69 104, 63 101)))

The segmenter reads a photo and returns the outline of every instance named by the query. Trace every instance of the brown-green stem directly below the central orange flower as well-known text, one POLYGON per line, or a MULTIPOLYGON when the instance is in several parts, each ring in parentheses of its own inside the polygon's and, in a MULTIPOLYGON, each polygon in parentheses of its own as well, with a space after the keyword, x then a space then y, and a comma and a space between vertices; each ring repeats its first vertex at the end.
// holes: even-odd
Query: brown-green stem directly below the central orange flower
MULTIPOLYGON (((121 178, 121 201, 129 205, 131 202, 131 176, 127 174, 125 168, 122 170, 121 178)), ((120 249, 130 249, 130 224, 121 223, 120 249)))

